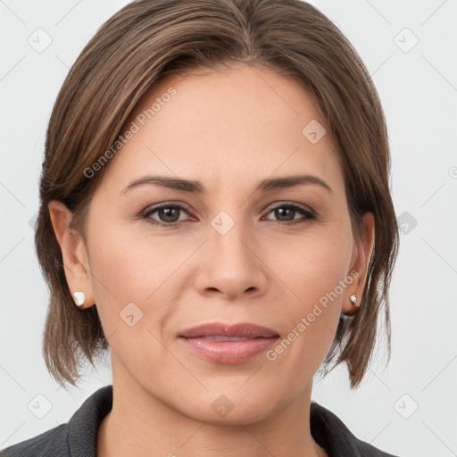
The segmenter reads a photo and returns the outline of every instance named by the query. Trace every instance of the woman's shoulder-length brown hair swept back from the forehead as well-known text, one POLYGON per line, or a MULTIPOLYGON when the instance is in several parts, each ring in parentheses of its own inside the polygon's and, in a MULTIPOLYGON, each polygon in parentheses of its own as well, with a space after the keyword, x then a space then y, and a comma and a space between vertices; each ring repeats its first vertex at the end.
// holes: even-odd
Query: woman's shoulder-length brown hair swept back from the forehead
POLYGON ((95 365, 108 343, 96 306, 80 311, 73 302, 47 204, 65 204, 74 215, 71 227, 84 237, 87 205, 106 166, 91 179, 84 170, 116 141, 145 92, 167 75, 232 62, 260 65, 303 84, 337 142, 354 235, 365 212, 375 216, 362 305, 354 316, 341 317, 326 372, 345 361, 351 386, 359 386, 383 305, 390 357, 388 288, 398 228, 386 121, 353 46, 324 14, 300 0, 137 0, 106 21, 83 49, 57 96, 46 134, 35 241, 50 288, 43 351, 62 386, 75 385, 83 361, 95 365))

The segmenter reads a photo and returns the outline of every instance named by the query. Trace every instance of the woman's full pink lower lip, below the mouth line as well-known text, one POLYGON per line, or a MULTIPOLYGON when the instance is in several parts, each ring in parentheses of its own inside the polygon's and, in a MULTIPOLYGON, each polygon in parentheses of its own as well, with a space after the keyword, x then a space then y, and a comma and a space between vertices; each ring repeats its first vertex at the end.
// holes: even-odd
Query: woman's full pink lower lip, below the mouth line
POLYGON ((243 363, 254 355, 266 351, 278 337, 253 338, 242 341, 211 341, 204 337, 185 338, 179 341, 197 355, 216 363, 243 363))

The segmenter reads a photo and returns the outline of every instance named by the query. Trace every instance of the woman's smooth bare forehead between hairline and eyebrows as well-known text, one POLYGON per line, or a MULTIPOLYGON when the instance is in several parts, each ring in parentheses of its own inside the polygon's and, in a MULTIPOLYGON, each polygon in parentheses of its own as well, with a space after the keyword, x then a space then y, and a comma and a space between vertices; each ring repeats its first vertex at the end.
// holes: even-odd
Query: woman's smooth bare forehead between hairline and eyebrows
POLYGON ((318 104, 295 79, 259 67, 198 67, 164 79, 137 104, 129 129, 136 132, 105 177, 116 184, 146 172, 198 175, 218 188, 298 172, 342 179, 318 104), (307 137, 310 125, 326 131, 317 143, 307 137))

